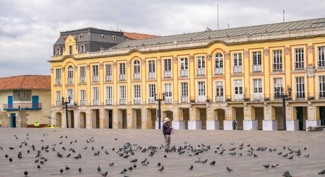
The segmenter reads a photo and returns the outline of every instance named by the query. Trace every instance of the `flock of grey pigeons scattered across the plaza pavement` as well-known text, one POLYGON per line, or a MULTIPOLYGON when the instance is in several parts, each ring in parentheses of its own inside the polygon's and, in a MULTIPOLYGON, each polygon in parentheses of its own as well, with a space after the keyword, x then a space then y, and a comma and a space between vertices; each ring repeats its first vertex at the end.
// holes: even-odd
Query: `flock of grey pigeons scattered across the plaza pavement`
MULTIPOLYGON (((48 135, 47 133, 43 133, 43 134, 38 133, 38 134, 40 136, 47 136, 48 135)), ((24 146, 28 147, 28 150, 26 151, 28 154, 29 153, 35 153, 36 154, 36 156, 35 156, 36 159, 35 159, 34 163, 35 163, 35 165, 37 164, 36 168, 38 170, 41 169, 42 165, 47 163, 47 158, 46 158, 47 154, 46 153, 48 153, 49 151, 57 151, 56 148, 58 148, 57 158, 70 158, 72 156, 71 153, 76 154, 76 151, 73 148, 66 149, 64 146, 58 147, 59 145, 62 145, 63 141, 59 142, 58 144, 52 144, 51 147, 49 145, 45 145, 45 146, 41 146, 41 147, 35 147, 35 145, 28 145, 28 141, 29 141, 28 135, 29 134, 26 135, 27 140, 22 141, 20 143, 20 145, 18 146, 18 148, 22 148, 22 145, 24 145, 24 146), (30 150, 30 148, 32 149, 32 151, 30 150), (71 153, 68 153, 68 155, 64 156, 61 153, 59 153, 59 149, 60 149, 60 151, 63 150, 64 152, 66 152, 68 150, 71 153), (41 165, 39 165, 39 164, 41 164, 41 165)), ((19 139, 16 135, 14 135, 14 136, 15 136, 15 138, 17 140, 19 139)), ((64 138, 64 136, 60 136, 59 138, 62 139, 62 138, 64 138)), ((65 136, 65 138, 67 139, 68 136, 65 136)), ((114 140, 117 140, 117 138, 114 138, 114 140)), ((94 141, 95 141, 94 137, 86 139, 87 144, 91 144, 94 141)), ((41 140, 41 142, 43 142, 43 140, 41 140)), ((73 143, 77 143, 77 140, 71 141, 69 144, 71 145, 73 143)), ((179 155, 182 155, 185 152, 187 152, 187 155, 189 157, 200 156, 201 153, 206 153, 212 148, 211 145, 204 145, 203 143, 201 145, 197 145, 197 147, 193 147, 191 144, 188 144, 188 142, 184 142, 184 144, 185 144, 184 146, 179 146, 178 148, 176 148, 176 146, 173 145, 169 150, 165 151, 166 153, 165 153, 163 158, 167 158, 168 153, 174 153, 174 155, 175 155, 175 153, 178 153, 179 155)), ((228 154, 230 156, 242 156, 243 155, 242 153, 236 153, 235 152, 236 149, 242 150, 244 148, 243 143, 241 143, 241 145, 239 145, 239 147, 237 147, 235 145, 235 143, 230 143, 229 146, 231 146, 232 148, 227 148, 227 150, 224 148, 223 144, 215 146, 214 154, 218 155, 218 156, 223 156, 223 155, 226 155, 226 153, 225 153, 226 151, 229 151, 228 154)), ((289 160, 292 160, 295 156, 298 156, 298 157, 301 156, 302 152, 305 152, 306 149, 307 149, 306 147, 304 147, 303 150, 301 150, 301 149, 292 150, 290 147, 283 146, 283 149, 281 149, 281 152, 279 152, 280 150, 278 150, 276 148, 274 148, 274 149, 269 148, 267 150, 267 147, 263 147, 263 146, 255 148, 255 149, 253 147, 251 147, 250 144, 245 145, 245 146, 246 146, 245 148, 247 148, 247 152, 248 152, 247 156, 252 156, 253 158, 258 158, 258 155, 255 154, 256 151, 260 151, 260 152, 269 151, 269 152, 275 152, 280 158, 287 158, 289 160)), ((83 149, 86 150, 87 148, 88 147, 85 146, 83 149)), ((155 153, 158 152, 159 150, 161 150, 161 149, 164 150, 164 148, 165 147, 163 145, 161 145, 159 147, 151 146, 151 145, 149 147, 144 147, 144 146, 140 146, 140 145, 137 145, 137 144, 125 143, 123 145, 123 147, 118 147, 116 150, 113 147, 111 149, 111 151, 113 153, 117 154, 116 156, 119 156, 120 158, 124 158, 124 159, 128 159, 128 158, 132 157, 135 154, 136 151, 141 152, 141 153, 148 153, 148 157, 150 158, 150 157, 153 157, 155 155, 155 153)), ((4 150, 4 148, 2 146, 0 146, 0 149, 4 150)), ((13 149, 15 149, 15 147, 8 147, 8 149, 13 150, 13 149)), ((103 151, 103 149, 104 149, 104 147, 101 146, 100 150, 103 151)), ((91 150, 95 151, 94 146, 91 147, 91 150)), ((106 150, 105 154, 109 155, 109 152, 106 150)), ((94 156, 99 156, 99 155, 102 155, 102 154, 100 154, 99 150, 97 152, 94 152, 94 156)), ((309 154, 305 154, 303 156, 305 158, 308 158, 309 154)), ((20 151, 18 153, 17 157, 18 157, 17 160, 23 158, 22 151, 20 151)), ((9 158, 8 160, 9 160, 10 163, 12 163, 13 160, 15 159, 15 157, 9 157, 7 154, 5 155, 5 158, 6 159, 9 158)), ((82 155, 79 153, 77 156, 74 156, 73 158, 77 160, 79 158, 82 158, 82 155)), ((128 176, 126 176, 124 174, 128 173, 128 171, 132 171, 132 170, 135 170, 137 168, 136 163, 137 163, 138 159, 134 158, 134 159, 128 160, 128 161, 131 163, 131 165, 130 165, 129 168, 123 168, 122 169, 121 174, 123 174, 123 177, 128 177, 128 176)), ((214 161, 208 162, 208 159, 202 160, 201 158, 197 158, 194 161, 194 163, 201 163, 201 164, 209 163, 211 166, 214 166, 216 164, 216 161, 214 160, 214 161)), ((145 158, 144 160, 141 161, 140 164, 141 164, 141 166, 147 166, 149 164, 149 160, 147 158, 145 158)), ((114 162, 111 162, 109 164, 109 166, 113 166, 113 165, 114 165, 114 162)), ((277 166, 279 166, 279 164, 277 164, 277 163, 263 164, 262 166, 265 169, 268 169, 269 167, 276 168, 277 166)), ((163 172, 164 171, 164 166, 160 162, 157 163, 157 167, 158 167, 157 168, 158 172, 163 172)), ((189 171, 192 171, 193 170, 193 165, 190 165, 187 168, 188 168, 189 171)), ((64 169, 66 171, 69 171, 70 167, 65 166, 64 169)), ((228 172, 233 172, 233 170, 228 166, 226 167, 226 170, 228 172)), ((82 173, 81 167, 79 167, 78 172, 82 173)), ((97 172, 100 173, 102 175, 102 177, 106 177, 108 175, 108 171, 105 171, 105 172, 101 171, 100 166, 98 166, 97 172)), ((61 173, 61 174, 64 173, 63 168, 61 168, 59 170, 59 173, 61 173)), ((325 170, 318 172, 318 175, 320 175, 320 174, 324 175, 325 170)), ((24 175, 28 176, 28 171, 24 171, 24 175)), ((284 176, 284 177, 292 177, 292 175, 290 174, 289 171, 285 171, 282 176, 284 176)))

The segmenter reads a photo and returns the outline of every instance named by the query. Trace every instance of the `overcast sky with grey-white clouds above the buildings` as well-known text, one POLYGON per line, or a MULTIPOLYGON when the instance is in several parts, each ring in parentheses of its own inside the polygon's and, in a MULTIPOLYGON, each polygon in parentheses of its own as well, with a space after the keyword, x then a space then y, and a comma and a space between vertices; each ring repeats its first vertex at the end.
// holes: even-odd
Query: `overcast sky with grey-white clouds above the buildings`
POLYGON ((0 0, 0 77, 50 75, 60 31, 84 27, 172 35, 325 17, 325 1, 0 0))

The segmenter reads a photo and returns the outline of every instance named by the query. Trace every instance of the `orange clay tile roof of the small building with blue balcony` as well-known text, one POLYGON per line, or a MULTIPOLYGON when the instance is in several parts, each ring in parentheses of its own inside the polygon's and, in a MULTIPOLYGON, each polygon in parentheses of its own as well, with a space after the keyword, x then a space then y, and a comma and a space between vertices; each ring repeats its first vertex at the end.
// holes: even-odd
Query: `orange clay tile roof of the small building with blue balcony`
POLYGON ((0 90, 51 89, 51 76, 23 75, 0 78, 0 90))

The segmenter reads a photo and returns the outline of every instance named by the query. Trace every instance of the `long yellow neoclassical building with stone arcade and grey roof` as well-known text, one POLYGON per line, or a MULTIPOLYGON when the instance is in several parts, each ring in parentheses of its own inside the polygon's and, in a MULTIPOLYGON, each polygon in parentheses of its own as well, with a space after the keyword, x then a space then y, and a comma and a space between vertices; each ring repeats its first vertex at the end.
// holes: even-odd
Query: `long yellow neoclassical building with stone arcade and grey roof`
POLYGON ((61 32, 51 63, 52 123, 70 128, 305 130, 325 124, 325 19, 131 40, 61 32), (84 39, 83 39, 84 38, 84 39), (283 120, 281 95, 285 99, 283 120), (324 98, 324 99, 323 99, 324 98))

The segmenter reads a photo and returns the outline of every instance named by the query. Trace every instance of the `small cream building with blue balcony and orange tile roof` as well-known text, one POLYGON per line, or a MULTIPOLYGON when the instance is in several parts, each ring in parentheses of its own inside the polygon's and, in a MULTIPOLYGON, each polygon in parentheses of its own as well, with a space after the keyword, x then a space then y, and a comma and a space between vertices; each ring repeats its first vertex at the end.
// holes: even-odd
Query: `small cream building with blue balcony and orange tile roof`
POLYGON ((0 78, 1 127, 40 127, 50 123, 51 77, 23 75, 0 78))

